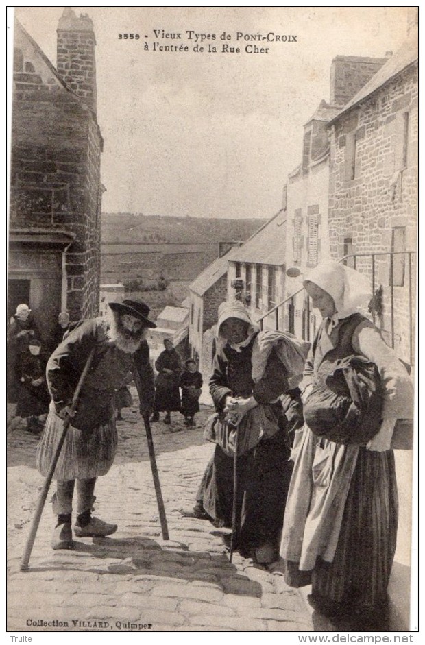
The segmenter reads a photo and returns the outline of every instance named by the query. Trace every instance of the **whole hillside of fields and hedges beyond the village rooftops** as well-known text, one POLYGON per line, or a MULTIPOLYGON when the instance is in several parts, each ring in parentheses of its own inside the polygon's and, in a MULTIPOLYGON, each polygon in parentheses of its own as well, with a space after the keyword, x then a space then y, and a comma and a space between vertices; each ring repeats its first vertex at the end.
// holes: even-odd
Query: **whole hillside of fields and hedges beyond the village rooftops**
POLYGON ((219 255, 219 241, 247 240, 267 220, 204 219, 103 213, 101 283, 121 282, 140 295, 156 316, 166 305, 180 306, 189 284, 219 255), (158 291, 158 279, 167 288, 158 291))

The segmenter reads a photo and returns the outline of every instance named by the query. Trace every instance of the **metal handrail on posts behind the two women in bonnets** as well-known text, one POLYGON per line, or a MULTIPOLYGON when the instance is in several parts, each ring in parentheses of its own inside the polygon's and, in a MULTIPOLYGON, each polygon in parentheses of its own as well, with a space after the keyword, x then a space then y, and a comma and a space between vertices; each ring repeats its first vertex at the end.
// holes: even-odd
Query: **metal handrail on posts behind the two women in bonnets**
MULTIPOLYGON (((389 256, 389 289, 390 289, 390 330, 387 332, 387 330, 383 330, 383 332, 389 334, 389 339, 391 341, 391 347, 394 348, 395 346, 395 337, 396 337, 396 326, 395 326, 395 319, 394 319, 394 290, 397 288, 405 288, 404 285, 404 269, 405 269, 405 263, 404 263, 404 269, 403 269, 403 284, 398 287, 398 285, 394 284, 394 258, 396 256, 404 256, 404 258, 407 257, 408 263, 407 263, 407 280, 408 280, 408 289, 409 289, 409 358, 410 358, 410 363, 411 365, 413 364, 413 337, 414 337, 414 329, 413 329, 413 302, 412 302, 412 295, 413 295, 413 284, 412 284, 412 256, 416 255, 415 251, 383 251, 383 252, 376 252, 376 253, 356 253, 356 254, 350 254, 350 255, 345 255, 343 258, 339 260, 339 262, 343 262, 345 264, 348 263, 349 260, 352 259, 352 267, 354 269, 357 268, 359 264, 362 263, 362 259, 364 260, 364 265, 367 269, 367 271, 363 271, 364 273, 372 273, 372 294, 371 294, 371 300, 370 300, 370 306, 371 310, 370 313, 372 314, 372 320, 374 321, 374 324, 376 324, 376 317, 382 313, 382 312, 377 312, 376 311, 376 264, 377 262, 381 259, 384 258, 384 256, 389 256)), ((274 307, 269 309, 267 313, 263 314, 260 316, 257 320, 257 322, 260 324, 260 328, 263 329, 264 326, 264 321, 265 318, 269 317, 274 313, 275 315, 275 326, 276 329, 279 329, 279 310, 281 307, 283 307, 285 304, 290 303, 292 305, 292 315, 295 312, 295 297, 302 293, 304 291, 304 287, 301 287, 298 289, 298 291, 294 291, 291 295, 287 296, 276 304, 274 307)), ((305 329, 305 335, 306 335, 306 340, 311 340, 311 321, 310 321, 310 298, 306 297, 306 329, 305 329)), ((291 326, 291 325, 290 325, 291 326)))

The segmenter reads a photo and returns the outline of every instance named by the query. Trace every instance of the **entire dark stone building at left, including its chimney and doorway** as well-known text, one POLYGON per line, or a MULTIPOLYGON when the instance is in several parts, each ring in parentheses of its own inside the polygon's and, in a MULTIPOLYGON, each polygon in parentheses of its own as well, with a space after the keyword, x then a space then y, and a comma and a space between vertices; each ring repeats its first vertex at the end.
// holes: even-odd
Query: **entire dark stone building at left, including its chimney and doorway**
POLYGON ((32 308, 48 343, 59 311, 96 315, 100 158, 95 34, 65 8, 57 66, 16 21, 12 96, 8 308, 32 308))

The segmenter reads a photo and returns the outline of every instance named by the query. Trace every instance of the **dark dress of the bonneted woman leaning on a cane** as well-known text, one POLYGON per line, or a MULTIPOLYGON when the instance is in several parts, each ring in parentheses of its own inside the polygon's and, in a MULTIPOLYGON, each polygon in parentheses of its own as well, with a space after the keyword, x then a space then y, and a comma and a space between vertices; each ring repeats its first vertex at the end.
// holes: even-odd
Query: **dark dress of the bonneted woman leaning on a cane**
MULTIPOLYGON (((263 378, 252 380, 252 350, 255 336, 240 352, 226 345, 215 355, 210 393, 217 412, 223 410, 226 396, 254 398, 270 404, 288 388, 287 372, 272 353, 263 378)), ((271 544, 278 549, 282 531, 292 464, 289 462, 289 437, 280 401, 271 404, 279 429, 273 437, 260 439, 251 450, 238 457, 237 545, 241 555, 271 544)), ((215 526, 232 527, 233 457, 216 446, 197 492, 197 503, 212 518, 215 526)))

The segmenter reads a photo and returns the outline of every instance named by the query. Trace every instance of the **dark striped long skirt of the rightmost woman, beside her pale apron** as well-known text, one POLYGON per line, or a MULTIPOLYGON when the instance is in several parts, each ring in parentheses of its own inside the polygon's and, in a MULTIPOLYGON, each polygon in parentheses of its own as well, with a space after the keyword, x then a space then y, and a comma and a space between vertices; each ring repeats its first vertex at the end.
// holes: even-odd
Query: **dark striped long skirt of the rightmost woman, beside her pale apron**
POLYGON ((385 611, 397 522, 393 451, 360 448, 335 557, 332 563, 317 559, 312 572, 313 594, 357 613, 379 616, 385 611))

